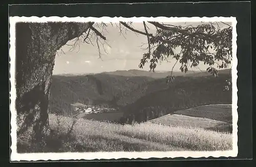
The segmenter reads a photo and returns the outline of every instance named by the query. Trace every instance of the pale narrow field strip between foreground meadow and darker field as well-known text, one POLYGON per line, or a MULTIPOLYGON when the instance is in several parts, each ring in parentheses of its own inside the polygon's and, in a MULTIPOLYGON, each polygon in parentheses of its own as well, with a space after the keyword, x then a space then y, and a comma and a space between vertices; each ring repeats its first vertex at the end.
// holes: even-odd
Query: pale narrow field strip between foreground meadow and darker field
POLYGON ((190 117, 184 115, 165 115, 157 119, 150 120, 149 122, 167 125, 167 126, 182 126, 182 127, 200 127, 216 131, 228 131, 226 127, 228 123, 211 120, 208 118, 190 117))

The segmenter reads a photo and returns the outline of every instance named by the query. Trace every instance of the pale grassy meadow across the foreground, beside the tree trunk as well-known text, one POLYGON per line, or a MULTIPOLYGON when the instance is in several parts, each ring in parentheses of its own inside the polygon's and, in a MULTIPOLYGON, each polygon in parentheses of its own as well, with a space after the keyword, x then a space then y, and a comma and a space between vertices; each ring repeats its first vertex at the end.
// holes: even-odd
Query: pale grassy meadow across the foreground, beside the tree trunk
MULTIPOLYGON (((43 149, 29 152, 231 150, 232 135, 195 127, 150 122, 117 125, 49 115, 51 134, 43 149)), ((32 147, 32 146, 31 146, 32 147)), ((18 144, 18 152, 21 150, 18 144)))

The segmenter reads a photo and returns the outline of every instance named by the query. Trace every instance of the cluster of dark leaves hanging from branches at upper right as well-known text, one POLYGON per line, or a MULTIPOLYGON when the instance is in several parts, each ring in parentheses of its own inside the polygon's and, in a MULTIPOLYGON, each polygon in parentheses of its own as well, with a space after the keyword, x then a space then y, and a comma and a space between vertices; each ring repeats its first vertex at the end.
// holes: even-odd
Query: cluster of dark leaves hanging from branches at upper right
MULTIPOLYGON (((216 28, 212 24, 168 27, 162 25, 154 36, 150 36, 151 49, 143 54, 139 67, 143 68, 148 61, 150 70, 155 70, 157 63, 173 59, 181 64, 180 70, 188 71, 197 67, 200 62, 209 65, 210 73, 218 75, 211 66, 217 62, 219 69, 227 68, 232 60, 232 27, 216 28), (162 27, 163 26, 163 27, 162 27), (181 50, 177 53, 176 50, 181 50)), ((209 72, 209 71, 208 71, 209 72)))

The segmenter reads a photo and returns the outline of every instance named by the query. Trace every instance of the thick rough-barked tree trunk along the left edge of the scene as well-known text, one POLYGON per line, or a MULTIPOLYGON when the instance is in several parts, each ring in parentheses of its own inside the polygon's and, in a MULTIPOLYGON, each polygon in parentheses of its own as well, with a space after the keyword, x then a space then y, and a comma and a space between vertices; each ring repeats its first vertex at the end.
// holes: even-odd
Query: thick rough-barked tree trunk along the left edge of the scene
POLYGON ((38 143, 49 134, 48 103, 56 51, 93 23, 16 23, 17 142, 38 143))

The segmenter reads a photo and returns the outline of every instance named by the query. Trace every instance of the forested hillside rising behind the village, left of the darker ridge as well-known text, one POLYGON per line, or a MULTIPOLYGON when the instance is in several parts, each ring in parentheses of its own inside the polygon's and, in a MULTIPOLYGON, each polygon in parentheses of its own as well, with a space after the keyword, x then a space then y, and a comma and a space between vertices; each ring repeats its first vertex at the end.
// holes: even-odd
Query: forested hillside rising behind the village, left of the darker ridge
POLYGON ((109 74, 63 76, 52 78, 49 110, 65 116, 73 115, 70 104, 82 103, 105 107, 118 107, 134 102, 123 101, 121 97, 144 88, 151 77, 126 77, 109 74))

